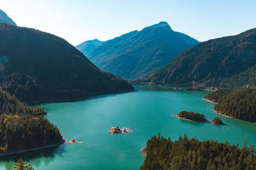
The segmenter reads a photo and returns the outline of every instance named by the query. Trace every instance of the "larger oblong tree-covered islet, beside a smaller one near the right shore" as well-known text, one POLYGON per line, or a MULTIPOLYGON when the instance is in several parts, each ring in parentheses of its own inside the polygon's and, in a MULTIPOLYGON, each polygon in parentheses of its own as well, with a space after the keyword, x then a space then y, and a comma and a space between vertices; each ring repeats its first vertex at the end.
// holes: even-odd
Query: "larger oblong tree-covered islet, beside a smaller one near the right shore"
POLYGON ((195 122, 209 122, 205 119, 203 114, 195 113, 193 111, 180 111, 180 113, 174 115, 174 117, 195 122))

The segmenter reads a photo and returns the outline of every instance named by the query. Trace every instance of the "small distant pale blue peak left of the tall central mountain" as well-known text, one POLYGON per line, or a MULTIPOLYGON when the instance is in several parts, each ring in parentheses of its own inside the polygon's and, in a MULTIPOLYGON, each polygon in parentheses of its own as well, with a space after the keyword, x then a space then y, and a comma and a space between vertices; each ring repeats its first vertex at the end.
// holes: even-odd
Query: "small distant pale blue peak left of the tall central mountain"
POLYGON ((83 43, 76 46, 77 50, 82 52, 85 56, 87 56, 92 50, 94 50, 97 46, 102 45, 104 41, 99 41, 98 39, 84 41, 83 43))

